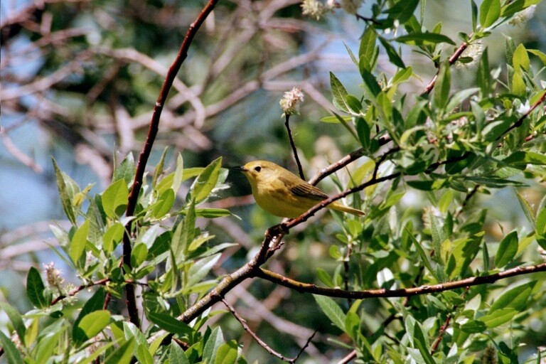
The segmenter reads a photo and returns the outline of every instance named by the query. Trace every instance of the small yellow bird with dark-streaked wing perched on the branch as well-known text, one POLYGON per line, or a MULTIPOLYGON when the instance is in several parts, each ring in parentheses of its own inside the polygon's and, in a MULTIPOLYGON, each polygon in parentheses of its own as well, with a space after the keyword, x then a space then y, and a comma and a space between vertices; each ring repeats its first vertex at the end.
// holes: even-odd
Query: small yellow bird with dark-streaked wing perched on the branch
MULTIPOLYGON (((319 188, 269 161, 252 161, 235 168, 247 176, 257 204, 282 218, 296 218, 328 198, 319 188)), ((349 208, 338 201, 326 207, 353 215, 365 215, 363 211, 349 208)))

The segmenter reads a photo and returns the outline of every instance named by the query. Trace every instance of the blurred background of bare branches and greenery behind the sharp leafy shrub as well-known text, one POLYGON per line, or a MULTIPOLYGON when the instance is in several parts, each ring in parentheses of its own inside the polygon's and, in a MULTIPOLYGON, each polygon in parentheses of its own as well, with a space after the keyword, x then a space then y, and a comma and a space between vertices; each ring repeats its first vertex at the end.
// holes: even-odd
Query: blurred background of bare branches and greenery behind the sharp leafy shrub
MULTIPOLYGON (((109 184, 115 161, 129 153, 137 158, 166 69, 202 6, 203 1, 193 0, 2 1, 0 299, 20 311, 30 309, 21 284, 26 272, 57 259, 48 247, 56 244, 48 225, 64 222, 50 157, 80 186, 95 183, 95 193, 109 184)), ((361 10, 363 15, 369 12, 366 4, 361 10)), ((442 21, 442 33, 452 39, 471 28, 466 1, 427 1, 426 10, 427 27, 442 21)), ((226 166, 267 159, 295 171, 279 108, 282 93, 293 86, 301 87, 306 97, 291 127, 308 178, 358 148, 340 124, 319 119, 333 109, 328 70, 349 92, 358 87, 360 76, 343 43, 358 49, 363 28, 363 21, 342 11, 320 22, 301 18, 296 0, 220 1, 198 32, 171 90, 149 168, 168 147, 171 166, 171 157, 180 151, 185 166, 206 166, 223 156, 226 166)), ((546 53, 544 34, 546 6, 541 3, 530 21, 503 26, 484 41, 491 69, 505 63, 504 35, 546 53)), ((404 92, 420 93, 436 69, 422 55, 405 55, 416 73, 428 76, 413 79, 404 92)), ((386 60, 380 54, 378 68, 392 73, 386 60)), ((473 73, 464 68, 452 72, 454 89, 474 82, 467 76, 473 73)), ((279 222, 255 206, 242 175, 230 174, 228 181, 231 188, 211 205, 230 208, 239 218, 210 220, 207 229, 218 242, 237 242, 242 249, 216 268, 218 274, 244 264, 264 229, 279 222)), ((327 180, 321 188, 336 187, 327 180)), ((537 204, 544 191, 535 185, 520 193, 537 204)), ((399 209, 422 223, 421 202, 418 193, 409 192, 399 209)), ((471 203, 491 209, 488 234, 495 239, 525 224, 513 191, 471 203)), ((338 266, 328 250, 338 243, 339 225, 328 213, 319 215, 291 232, 289 244, 270 266, 304 282, 318 282, 316 268, 338 266)), ((70 281, 66 268, 63 276, 70 281)), ((328 353, 335 349, 326 343, 326 333, 335 328, 310 296, 268 282, 245 282, 233 293, 242 300, 242 316, 272 348, 296 355, 313 327, 320 334, 309 354, 317 362, 336 356, 328 353)), ((365 301, 371 327, 381 322, 375 323, 378 306, 376 300, 365 301)), ((6 319, 0 320, 1 327, 6 319)), ((226 339, 243 335, 231 316, 222 320, 229 328, 226 339)), ((535 329, 537 335, 527 338, 528 343, 544 344, 545 324, 535 322, 535 329)), ((247 336, 241 341, 249 361, 266 362, 263 348, 247 336)))

